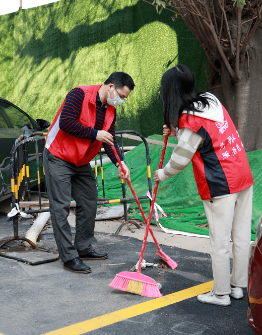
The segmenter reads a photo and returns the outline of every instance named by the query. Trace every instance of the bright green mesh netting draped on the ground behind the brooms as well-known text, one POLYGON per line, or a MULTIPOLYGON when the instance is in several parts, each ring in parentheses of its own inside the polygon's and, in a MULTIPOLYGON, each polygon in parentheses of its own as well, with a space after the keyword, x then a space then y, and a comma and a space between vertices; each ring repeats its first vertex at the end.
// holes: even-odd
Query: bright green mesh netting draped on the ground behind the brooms
MULTIPOLYGON (((161 135, 153 135, 149 138, 163 141, 161 135)), ((169 138, 168 142, 175 143, 174 138, 169 138)), ((162 146, 154 144, 148 145, 150 158, 152 160, 151 174, 152 188, 154 189, 153 175, 159 166, 162 146)), ((163 166, 170 159, 172 150, 172 148, 167 147, 163 166)), ((135 149, 126 153, 124 157, 126 165, 130 169, 131 183, 136 194, 138 196, 146 195, 148 192, 148 176, 145 145, 138 145, 135 149)), ((259 177, 262 173, 262 150, 248 152, 247 158, 254 178, 251 226, 251 240, 254 240, 255 228, 262 212, 261 186, 259 185, 259 177)), ((122 198, 121 182, 117 178, 115 166, 112 163, 104 164, 103 174, 105 196, 108 198, 122 198)), ((98 195, 99 197, 103 197, 100 167, 98 168, 98 195)), ((126 183, 126 197, 132 196, 133 194, 126 183)), ((149 200, 142 199, 140 202, 146 217, 148 217, 150 209, 149 200)), ((207 218, 202 199, 198 193, 197 184, 194 180, 191 163, 182 172, 169 178, 167 181, 161 181, 159 183, 156 202, 163 208, 164 212, 168 214, 166 218, 163 217, 159 219, 164 227, 195 234, 209 235, 209 229, 207 227, 199 227, 202 224, 207 224, 207 218)), ((130 209, 132 210, 134 208, 139 212, 135 200, 132 202, 130 209)), ((134 217, 144 221, 141 214, 134 214, 134 217)), ((154 222, 152 221, 152 223, 154 222)))

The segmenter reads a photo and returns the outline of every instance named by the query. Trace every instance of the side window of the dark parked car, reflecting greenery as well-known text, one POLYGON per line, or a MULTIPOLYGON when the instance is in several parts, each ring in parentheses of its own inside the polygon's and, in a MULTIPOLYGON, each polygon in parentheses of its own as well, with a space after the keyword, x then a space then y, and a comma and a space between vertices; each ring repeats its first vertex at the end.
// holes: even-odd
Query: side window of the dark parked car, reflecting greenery
POLYGON ((1 106, 7 114, 8 122, 10 123, 11 128, 34 129, 29 117, 22 113, 19 109, 3 101, 1 102, 1 106))

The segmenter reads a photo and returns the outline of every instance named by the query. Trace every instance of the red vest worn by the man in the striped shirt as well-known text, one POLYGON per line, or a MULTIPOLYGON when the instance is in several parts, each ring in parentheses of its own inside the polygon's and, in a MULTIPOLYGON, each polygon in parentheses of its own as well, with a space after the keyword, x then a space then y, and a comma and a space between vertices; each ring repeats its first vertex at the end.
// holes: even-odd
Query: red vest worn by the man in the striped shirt
MULTIPOLYGON (((78 86, 78 88, 81 88, 85 92, 78 122, 86 127, 91 126, 94 128, 95 126, 96 96, 101 86, 102 85, 78 86)), ((73 163, 76 166, 81 166, 89 163, 96 156, 101 148, 102 142, 95 140, 93 143, 91 143, 91 140, 89 139, 81 139, 72 136, 59 128, 59 117, 64 105, 64 101, 48 130, 45 147, 55 157, 73 163)), ((114 113, 114 107, 107 105, 102 130, 108 131, 113 122, 114 113)))

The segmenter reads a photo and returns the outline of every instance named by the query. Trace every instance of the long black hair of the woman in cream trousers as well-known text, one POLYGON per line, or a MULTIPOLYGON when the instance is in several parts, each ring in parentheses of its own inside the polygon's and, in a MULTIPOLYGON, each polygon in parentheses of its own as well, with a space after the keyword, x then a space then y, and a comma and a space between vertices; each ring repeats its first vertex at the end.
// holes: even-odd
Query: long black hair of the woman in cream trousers
POLYGON ((198 108, 209 106, 209 101, 203 95, 205 92, 198 92, 194 86, 194 76, 190 69, 184 64, 177 64, 174 68, 166 71, 161 79, 160 101, 163 107, 165 124, 171 128, 171 124, 178 127, 178 120, 183 110, 186 110, 186 118, 189 112, 201 112, 198 108))

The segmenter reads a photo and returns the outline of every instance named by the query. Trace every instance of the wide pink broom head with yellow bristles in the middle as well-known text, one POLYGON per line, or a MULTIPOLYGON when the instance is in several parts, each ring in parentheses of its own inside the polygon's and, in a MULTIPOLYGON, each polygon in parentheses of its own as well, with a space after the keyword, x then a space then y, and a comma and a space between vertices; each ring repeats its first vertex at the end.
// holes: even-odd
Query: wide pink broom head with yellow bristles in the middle
POLYGON ((143 297, 162 297, 157 282, 139 272, 120 272, 109 286, 116 290, 139 294, 143 297))

